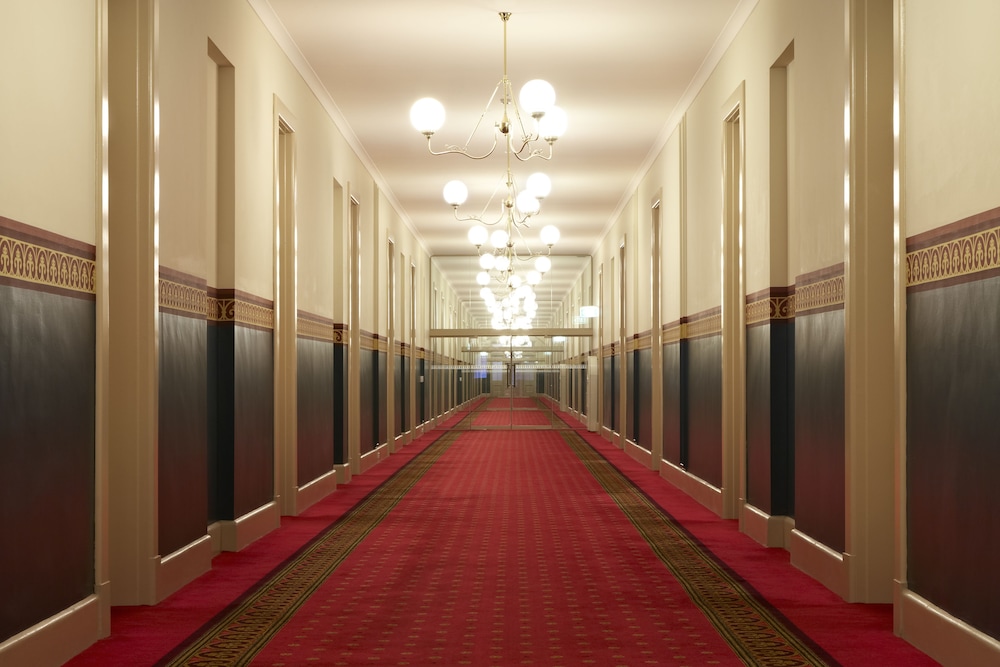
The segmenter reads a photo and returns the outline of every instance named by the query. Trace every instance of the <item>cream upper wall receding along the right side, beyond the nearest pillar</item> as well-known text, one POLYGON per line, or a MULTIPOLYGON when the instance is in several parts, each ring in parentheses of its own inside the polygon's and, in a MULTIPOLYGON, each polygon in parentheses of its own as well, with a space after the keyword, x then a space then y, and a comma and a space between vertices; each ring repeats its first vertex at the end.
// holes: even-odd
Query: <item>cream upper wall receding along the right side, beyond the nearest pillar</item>
MULTIPOLYGON (((797 275, 843 261, 844 24, 841 0, 757 5, 595 253, 607 269, 622 236, 630 239, 628 333, 651 325, 645 249, 651 246, 650 206, 658 194, 662 322, 721 304, 723 122, 741 84, 746 291, 791 285, 797 275), (788 149, 789 220, 784 238, 772 243, 770 71, 793 42, 787 84, 787 135, 795 138, 788 149), (772 252, 786 256, 772 258, 772 252)), ((607 318, 605 326, 606 340, 616 335, 607 318)))

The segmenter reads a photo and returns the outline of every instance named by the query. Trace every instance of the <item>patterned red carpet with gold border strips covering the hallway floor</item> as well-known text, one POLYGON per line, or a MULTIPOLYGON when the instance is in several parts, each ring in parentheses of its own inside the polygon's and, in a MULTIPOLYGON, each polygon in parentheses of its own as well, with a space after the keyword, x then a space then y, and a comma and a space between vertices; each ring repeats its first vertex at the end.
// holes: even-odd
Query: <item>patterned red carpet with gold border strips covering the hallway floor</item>
POLYGON ((265 563, 223 554, 165 615, 118 611, 116 634, 72 664, 934 664, 884 608, 834 599, 779 554, 748 578, 722 564, 706 544, 734 560, 775 550, 591 434, 429 440, 261 540, 288 546, 246 550, 265 563), (247 592, 220 593, 231 579, 247 592), (758 593, 771 586, 777 605, 758 593))

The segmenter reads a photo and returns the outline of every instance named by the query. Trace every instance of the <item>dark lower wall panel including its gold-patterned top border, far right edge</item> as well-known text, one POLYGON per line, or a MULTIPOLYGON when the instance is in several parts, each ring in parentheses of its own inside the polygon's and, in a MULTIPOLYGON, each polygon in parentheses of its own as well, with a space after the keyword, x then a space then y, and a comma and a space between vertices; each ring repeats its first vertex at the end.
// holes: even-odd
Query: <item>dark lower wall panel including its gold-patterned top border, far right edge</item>
POLYGON ((1000 637, 1000 210, 980 218, 908 243, 907 578, 1000 637))

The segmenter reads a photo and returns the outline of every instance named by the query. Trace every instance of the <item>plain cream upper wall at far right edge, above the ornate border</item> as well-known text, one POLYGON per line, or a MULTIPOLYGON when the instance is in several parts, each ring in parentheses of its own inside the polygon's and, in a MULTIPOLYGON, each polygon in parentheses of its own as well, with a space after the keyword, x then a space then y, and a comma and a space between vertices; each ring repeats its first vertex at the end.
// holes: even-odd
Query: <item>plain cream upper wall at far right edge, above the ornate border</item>
POLYGON ((1000 206, 1000 3, 902 6, 903 193, 913 236, 1000 206))

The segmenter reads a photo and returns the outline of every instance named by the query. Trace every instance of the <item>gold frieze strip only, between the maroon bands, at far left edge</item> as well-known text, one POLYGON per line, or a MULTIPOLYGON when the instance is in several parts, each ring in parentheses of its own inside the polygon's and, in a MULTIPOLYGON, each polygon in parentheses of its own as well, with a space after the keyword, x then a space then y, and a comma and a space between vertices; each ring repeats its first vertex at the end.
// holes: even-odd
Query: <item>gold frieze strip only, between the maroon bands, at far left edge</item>
POLYGON ((97 262, 0 235, 0 277, 96 294, 97 262))

